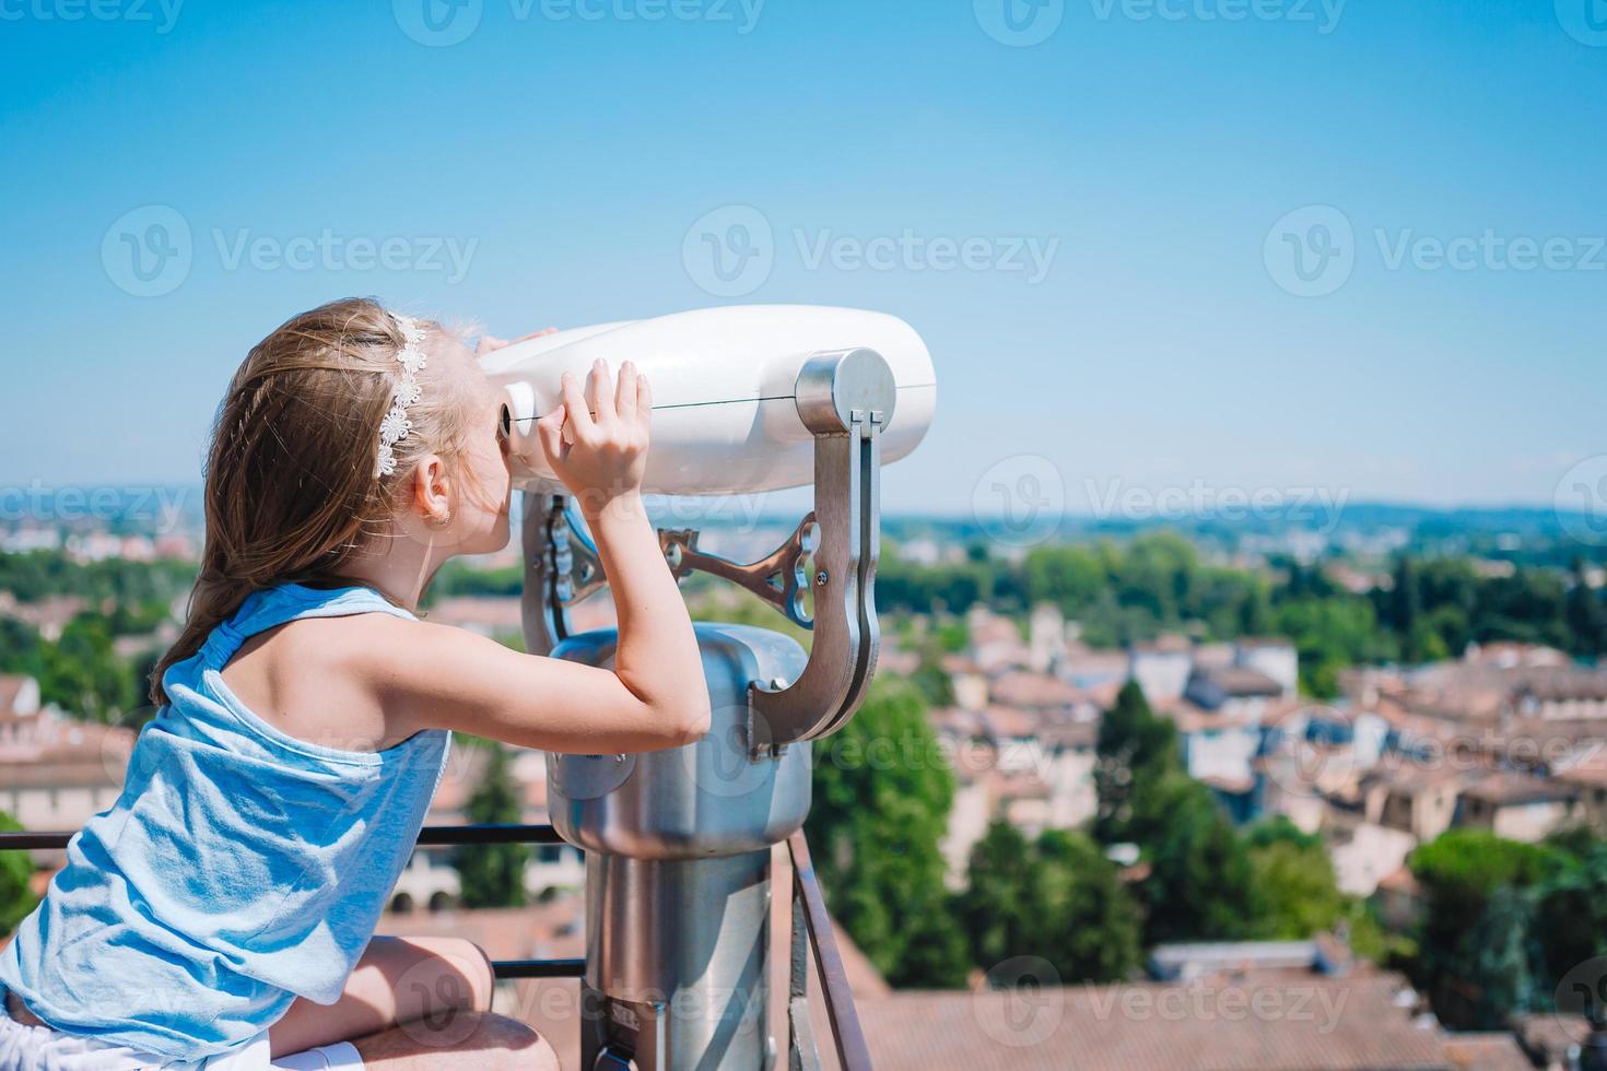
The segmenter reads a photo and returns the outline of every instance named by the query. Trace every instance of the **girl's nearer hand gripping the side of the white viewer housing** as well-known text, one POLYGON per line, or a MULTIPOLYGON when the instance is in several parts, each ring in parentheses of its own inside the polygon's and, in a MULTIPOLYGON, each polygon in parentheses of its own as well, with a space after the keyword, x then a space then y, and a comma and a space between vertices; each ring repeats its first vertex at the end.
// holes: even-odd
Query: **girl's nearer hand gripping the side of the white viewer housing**
POLYGON ((585 395, 572 373, 561 382, 562 403, 535 430, 546 462, 590 519, 614 499, 641 493, 652 390, 632 361, 619 366, 615 385, 607 361, 598 360, 585 395))

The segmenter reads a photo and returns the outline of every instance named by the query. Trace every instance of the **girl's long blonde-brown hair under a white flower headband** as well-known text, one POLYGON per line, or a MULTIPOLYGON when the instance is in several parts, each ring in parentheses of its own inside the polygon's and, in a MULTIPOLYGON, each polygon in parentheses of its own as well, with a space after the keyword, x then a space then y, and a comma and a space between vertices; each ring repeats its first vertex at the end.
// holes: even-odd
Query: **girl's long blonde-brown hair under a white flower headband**
POLYGON ((246 356, 212 426, 201 575, 178 641, 151 673, 153 703, 167 698, 167 668, 201 650, 252 591, 337 583, 342 567, 389 531, 421 456, 461 458, 468 406, 434 360, 442 340, 461 339, 429 320, 419 326, 432 360, 418 373, 423 392, 407 409, 411 430, 392 448, 391 475, 376 475, 374 464, 405 339, 379 302, 320 305, 246 356))

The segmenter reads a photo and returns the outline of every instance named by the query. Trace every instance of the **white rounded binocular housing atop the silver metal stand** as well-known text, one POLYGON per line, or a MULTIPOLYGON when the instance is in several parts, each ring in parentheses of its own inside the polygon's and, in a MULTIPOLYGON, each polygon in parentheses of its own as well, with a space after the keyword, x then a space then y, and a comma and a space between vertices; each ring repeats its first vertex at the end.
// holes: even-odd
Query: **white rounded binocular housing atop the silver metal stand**
MULTIPOLYGON (((892 397, 881 461, 919 445, 932 424, 932 356, 910 324, 885 313, 816 305, 734 305, 654 320, 575 328, 487 353, 480 364, 503 390, 503 434, 524 490, 564 493, 535 435, 535 421, 559 405, 562 374, 585 382, 593 361, 633 361, 652 385, 652 446, 643 491, 736 495, 815 480, 815 437, 804 409, 820 405, 807 381, 810 358, 871 350, 885 361, 874 392, 892 397)), ((860 353, 848 361, 874 364, 860 353)), ((863 379, 863 376, 860 376, 863 379)), ((826 387, 828 393, 840 387, 826 387)), ((842 409, 852 398, 828 401, 842 409)), ((847 413, 842 414, 847 417, 847 413)))

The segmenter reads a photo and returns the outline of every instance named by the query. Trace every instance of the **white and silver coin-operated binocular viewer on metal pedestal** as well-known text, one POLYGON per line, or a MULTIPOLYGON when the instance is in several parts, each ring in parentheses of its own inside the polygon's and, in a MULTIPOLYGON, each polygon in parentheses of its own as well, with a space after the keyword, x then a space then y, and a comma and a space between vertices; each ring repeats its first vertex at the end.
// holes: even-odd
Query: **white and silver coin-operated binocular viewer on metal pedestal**
POLYGON ((677 578, 741 584, 812 631, 696 623, 712 726, 649 755, 548 755, 553 825, 587 853, 582 1066, 776 1063, 770 1029, 771 845, 810 809, 810 740, 840 729, 876 670, 881 466, 926 435, 937 400, 919 336, 881 313, 733 307, 612 323, 489 355, 524 498, 527 649, 612 665, 617 631, 572 633, 606 583, 535 443, 564 371, 633 360, 652 381, 643 490, 734 495, 813 485, 815 509, 757 562, 660 530, 677 578), (805 609, 805 591, 812 612, 805 609))

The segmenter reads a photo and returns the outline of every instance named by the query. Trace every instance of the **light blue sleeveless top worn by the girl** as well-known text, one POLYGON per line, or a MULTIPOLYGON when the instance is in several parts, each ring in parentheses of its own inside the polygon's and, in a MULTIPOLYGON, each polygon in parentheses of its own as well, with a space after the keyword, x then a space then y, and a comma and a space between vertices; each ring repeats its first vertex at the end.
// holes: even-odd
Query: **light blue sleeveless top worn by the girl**
POLYGON ((0 954, 0 984, 56 1029, 178 1063, 239 1049, 297 996, 341 996, 452 734, 384 751, 309 743, 246 710, 220 670, 254 633, 368 612, 411 618, 370 588, 257 591, 167 670, 121 798, 67 845, 0 954))

